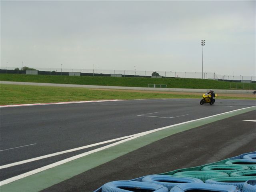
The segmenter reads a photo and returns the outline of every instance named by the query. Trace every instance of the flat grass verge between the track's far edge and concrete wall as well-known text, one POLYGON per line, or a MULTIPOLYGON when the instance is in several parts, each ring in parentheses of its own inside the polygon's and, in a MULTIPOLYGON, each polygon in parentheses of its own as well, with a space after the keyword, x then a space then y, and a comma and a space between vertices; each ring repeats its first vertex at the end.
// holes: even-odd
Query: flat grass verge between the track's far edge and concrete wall
MULTIPOLYGON (((170 93, 127 92, 113 90, 90 90, 88 88, 66 88, 49 86, 24 86, 0 84, 0 104, 31 104, 45 102, 105 100, 105 99, 149 99, 149 98, 201 98, 198 95, 170 93)), ((231 98, 231 97, 219 97, 231 98)), ((234 97, 232 97, 234 98, 234 97)), ((249 99, 249 98, 237 98, 249 99)), ((251 98, 252 99, 252 98, 251 98)))

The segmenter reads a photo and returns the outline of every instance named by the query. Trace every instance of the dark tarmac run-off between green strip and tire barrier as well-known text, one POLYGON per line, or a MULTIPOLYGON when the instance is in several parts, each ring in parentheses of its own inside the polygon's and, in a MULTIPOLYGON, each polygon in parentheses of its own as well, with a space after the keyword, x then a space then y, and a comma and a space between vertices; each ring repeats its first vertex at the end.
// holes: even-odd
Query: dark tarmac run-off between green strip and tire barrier
POLYGON ((115 180, 131 180, 213 163, 256 151, 255 111, 193 128, 139 148, 65 180, 43 192, 94 191, 115 180))

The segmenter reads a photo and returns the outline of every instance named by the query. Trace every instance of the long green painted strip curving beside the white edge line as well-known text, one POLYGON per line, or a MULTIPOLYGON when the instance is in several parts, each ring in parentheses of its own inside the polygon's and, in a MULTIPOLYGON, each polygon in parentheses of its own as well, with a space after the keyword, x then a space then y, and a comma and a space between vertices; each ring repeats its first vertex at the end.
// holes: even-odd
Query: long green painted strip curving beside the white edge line
POLYGON ((0 187, 1 192, 38 192, 167 136, 256 110, 256 106, 182 124, 118 144, 0 187))

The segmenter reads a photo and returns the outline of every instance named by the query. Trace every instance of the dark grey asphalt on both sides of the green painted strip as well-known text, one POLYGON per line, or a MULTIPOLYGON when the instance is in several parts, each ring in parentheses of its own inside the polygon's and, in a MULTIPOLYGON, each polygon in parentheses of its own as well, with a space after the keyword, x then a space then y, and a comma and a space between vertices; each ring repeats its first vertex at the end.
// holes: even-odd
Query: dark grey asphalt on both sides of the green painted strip
MULTIPOLYGON (((124 136, 255 105, 253 100, 217 100, 213 106, 201 106, 197 99, 159 99, 1 108, 0 165, 10 166, 1 168, 0 180, 116 141, 99 142, 121 140, 124 136), (11 165, 90 144, 97 145, 11 165)), ((93 191, 108 181, 129 180, 256 151, 256 122, 243 120, 256 120, 255 110, 152 140, 117 158, 107 160, 106 156, 99 156, 106 159, 99 166, 34 191, 93 191)))

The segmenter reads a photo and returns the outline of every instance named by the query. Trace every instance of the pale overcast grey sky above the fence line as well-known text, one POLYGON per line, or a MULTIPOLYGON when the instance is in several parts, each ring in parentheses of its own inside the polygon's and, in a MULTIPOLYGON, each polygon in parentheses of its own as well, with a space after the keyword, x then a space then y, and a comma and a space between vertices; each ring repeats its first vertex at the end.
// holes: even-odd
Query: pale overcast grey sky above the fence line
POLYGON ((1 68, 256 76, 256 1, 0 2, 1 68))

